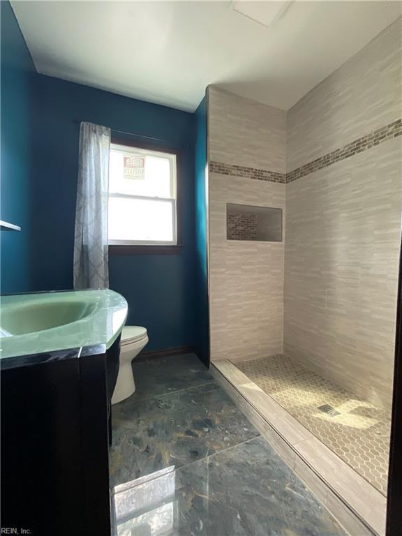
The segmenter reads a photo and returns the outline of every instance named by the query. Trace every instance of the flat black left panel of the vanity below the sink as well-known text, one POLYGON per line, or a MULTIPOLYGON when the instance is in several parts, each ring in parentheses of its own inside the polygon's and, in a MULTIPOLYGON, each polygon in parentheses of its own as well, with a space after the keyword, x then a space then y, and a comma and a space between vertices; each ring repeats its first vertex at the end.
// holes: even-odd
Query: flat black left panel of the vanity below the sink
POLYGON ((77 534, 84 498, 79 373, 79 359, 1 371, 2 528, 77 534))

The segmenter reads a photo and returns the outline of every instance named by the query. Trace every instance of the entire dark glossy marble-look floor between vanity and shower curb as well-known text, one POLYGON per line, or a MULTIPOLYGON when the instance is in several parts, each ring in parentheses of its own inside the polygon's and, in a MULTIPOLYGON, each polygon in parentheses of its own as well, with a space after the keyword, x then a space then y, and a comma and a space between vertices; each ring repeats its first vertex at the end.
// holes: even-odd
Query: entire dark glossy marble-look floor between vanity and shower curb
POLYGON ((133 369, 112 408, 113 536, 345 536, 194 355, 133 369))

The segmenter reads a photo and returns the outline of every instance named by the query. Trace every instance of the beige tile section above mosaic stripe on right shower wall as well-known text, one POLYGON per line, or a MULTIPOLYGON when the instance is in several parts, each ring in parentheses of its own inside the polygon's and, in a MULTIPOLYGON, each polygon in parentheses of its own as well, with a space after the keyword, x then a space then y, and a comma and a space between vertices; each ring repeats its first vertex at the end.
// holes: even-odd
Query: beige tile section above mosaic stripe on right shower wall
POLYGON ((401 117, 401 18, 288 112, 287 171, 401 117))

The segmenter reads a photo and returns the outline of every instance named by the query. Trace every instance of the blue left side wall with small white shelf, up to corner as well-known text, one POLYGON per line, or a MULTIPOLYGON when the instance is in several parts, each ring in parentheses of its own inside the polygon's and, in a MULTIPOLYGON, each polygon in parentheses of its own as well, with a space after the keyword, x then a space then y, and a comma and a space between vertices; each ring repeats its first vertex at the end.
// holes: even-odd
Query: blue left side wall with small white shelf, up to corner
POLYGON ((35 68, 10 4, 1 1, 1 292, 31 289, 31 83, 35 68))

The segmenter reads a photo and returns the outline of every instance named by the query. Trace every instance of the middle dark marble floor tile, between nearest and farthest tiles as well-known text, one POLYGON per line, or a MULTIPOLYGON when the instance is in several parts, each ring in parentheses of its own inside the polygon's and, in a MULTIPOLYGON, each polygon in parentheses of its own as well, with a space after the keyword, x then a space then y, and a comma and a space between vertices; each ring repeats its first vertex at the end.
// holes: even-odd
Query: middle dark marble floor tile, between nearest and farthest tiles
POLYGON ((111 485, 200 460, 259 435, 216 383, 112 408, 111 485))

